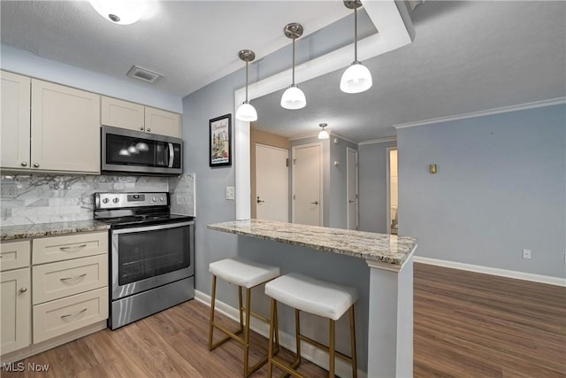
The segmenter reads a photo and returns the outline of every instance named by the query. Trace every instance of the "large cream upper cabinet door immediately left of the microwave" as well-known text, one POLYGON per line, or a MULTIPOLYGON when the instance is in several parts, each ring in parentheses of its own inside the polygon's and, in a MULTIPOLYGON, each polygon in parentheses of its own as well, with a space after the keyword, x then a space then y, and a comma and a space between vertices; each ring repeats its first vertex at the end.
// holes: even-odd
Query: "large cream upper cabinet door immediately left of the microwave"
POLYGON ((100 173, 100 96, 32 79, 32 170, 100 173))

